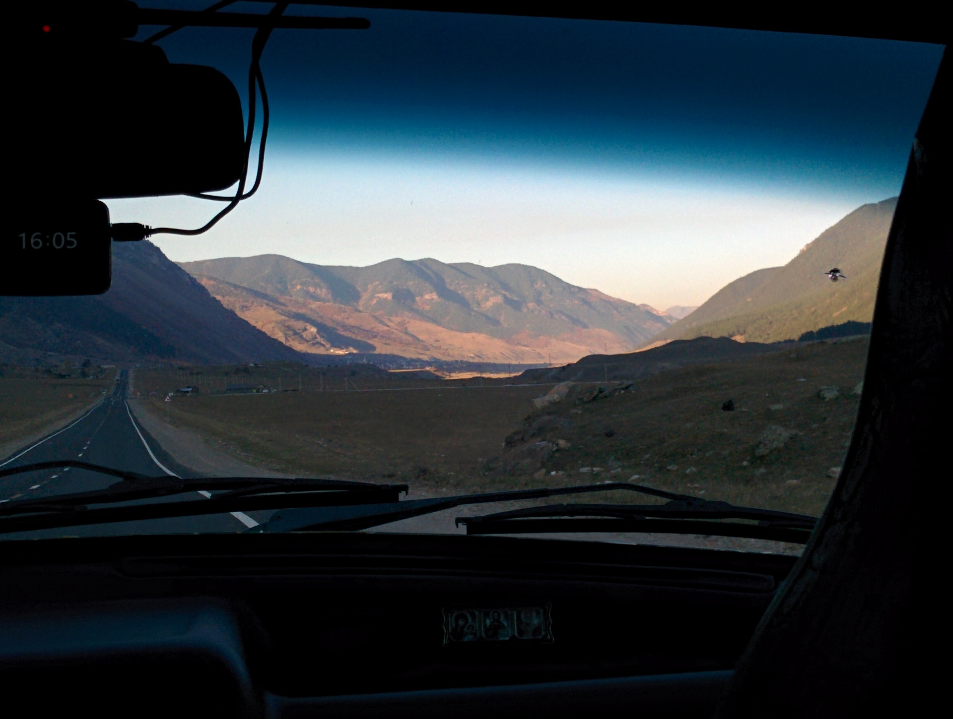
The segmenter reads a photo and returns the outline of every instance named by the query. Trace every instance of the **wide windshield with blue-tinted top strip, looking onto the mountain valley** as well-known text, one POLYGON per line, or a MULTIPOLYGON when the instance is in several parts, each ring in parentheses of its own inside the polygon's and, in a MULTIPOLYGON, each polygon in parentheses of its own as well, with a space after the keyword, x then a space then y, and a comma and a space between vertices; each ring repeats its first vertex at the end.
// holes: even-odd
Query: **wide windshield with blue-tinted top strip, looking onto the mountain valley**
MULTIPOLYGON (((145 487, 132 474, 392 489, 315 485, 282 504, 274 493, 290 485, 255 485, 253 502, 231 485, 147 488, 110 499, 109 521, 58 514, 0 536, 274 530, 314 502, 387 508, 612 482, 662 491, 414 505, 383 524, 345 512, 351 524, 327 514, 291 529, 464 533, 478 522, 459 517, 536 508, 562 524, 505 531, 799 552, 781 529, 570 520, 642 521, 684 497, 820 516, 850 444, 883 248, 942 48, 287 14, 371 26, 274 30, 252 198, 195 237, 113 243, 101 296, 0 299, 0 471, 47 463, 0 477, 0 512, 145 487), (67 460, 132 474, 56 465, 67 460), (223 491, 238 494, 211 514, 118 511, 223 491), (649 514, 609 509, 621 505, 649 514)), ((247 114, 252 36, 187 28, 155 44, 173 63, 225 72, 247 114)), ((113 223, 154 227, 199 227, 220 209, 182 196, 107 204, 113 223)), ((679 516, 698 520, 702 505, 689 505, 679 516)))

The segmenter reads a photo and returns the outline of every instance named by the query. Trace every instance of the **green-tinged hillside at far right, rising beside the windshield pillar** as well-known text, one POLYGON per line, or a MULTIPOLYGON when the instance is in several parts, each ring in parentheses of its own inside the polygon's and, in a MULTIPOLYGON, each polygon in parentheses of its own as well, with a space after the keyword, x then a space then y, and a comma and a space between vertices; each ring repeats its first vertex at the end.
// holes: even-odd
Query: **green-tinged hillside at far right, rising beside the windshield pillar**
POLYGON ((896 207, 896 197, 863 205, 783 267, 756 270, 726 285, 653 342, 702 336, 777 342, 848 320, 870 322, 896 207), (847 279, 828 280, 824 272, 833 267, 847 279))

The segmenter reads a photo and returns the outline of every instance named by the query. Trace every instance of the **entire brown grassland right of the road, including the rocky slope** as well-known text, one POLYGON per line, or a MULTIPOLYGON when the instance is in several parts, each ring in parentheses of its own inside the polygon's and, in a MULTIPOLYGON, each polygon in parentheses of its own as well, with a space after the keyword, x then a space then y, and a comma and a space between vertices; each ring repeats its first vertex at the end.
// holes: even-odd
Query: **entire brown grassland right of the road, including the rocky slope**
POLYGON ((865 354, 863 339, 802 345, 630 387, 578 385, 544 409, 531 400, 551 386, 415 379, 362 365, 138 369, 135 389, 172 425, 298 475, 406 482, 416 495, 638 475, 660 489, 818 514, 850 440, 865 354), (222 394, 236 385, 270 391, 222 394), (183 386, 199 394, 163 401, 183 386), (821 399, 823 387, 838 396, 821 399), (728 399, 733 411, 721 409, 728 399))

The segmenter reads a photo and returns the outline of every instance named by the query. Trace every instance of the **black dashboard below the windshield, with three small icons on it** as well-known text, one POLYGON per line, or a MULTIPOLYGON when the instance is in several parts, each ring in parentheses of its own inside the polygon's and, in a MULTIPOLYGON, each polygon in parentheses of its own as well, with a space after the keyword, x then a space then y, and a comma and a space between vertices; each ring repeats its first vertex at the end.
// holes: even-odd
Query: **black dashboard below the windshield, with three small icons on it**
POLYGON ((4 683, 140 715, 704 716, 796 561, 361 532, 5 546, 4 683))

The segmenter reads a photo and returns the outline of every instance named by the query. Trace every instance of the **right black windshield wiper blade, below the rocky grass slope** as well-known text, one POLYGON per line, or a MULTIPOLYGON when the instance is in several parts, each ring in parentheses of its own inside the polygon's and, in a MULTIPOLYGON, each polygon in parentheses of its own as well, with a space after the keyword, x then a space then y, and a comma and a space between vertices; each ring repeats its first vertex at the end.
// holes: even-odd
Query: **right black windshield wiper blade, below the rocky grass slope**
POLYGON ((804 514, 735 507, 727 502, 674 500, 664 505, 547 505, 457 517, 467 534, 638 532, 702 534, 806 544, 817 518, 804 514), (758 524, 724 522, 757 520, 758 524), (714 521, 713 521, 714 520, 714 521))

